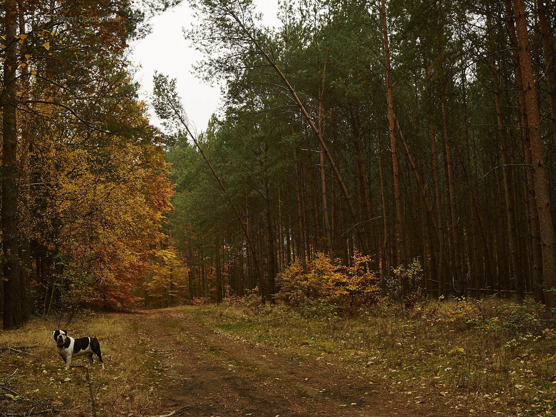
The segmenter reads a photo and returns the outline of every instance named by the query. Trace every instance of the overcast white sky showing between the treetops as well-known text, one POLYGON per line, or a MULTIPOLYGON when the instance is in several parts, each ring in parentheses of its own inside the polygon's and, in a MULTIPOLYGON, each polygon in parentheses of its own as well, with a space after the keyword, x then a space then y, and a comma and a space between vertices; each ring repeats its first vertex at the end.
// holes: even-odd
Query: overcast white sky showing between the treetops
MULTIPOLYGON (((257 11, 263 13, 265 26, 278 27, 277 0, 254 0, 257 11)), ((202 56, 183 38, 182 27, 190 28, 193 11, 188 1, 151 20, 152 32, 145 39, 131 44, 131 61, 137 66, 136 81, 141 83, 141 96, 148 102, 152 93, 152 76, 155 71, 176 78, 178 93, 189 119, 196 131, 206 129, 212 113, 220 107, 220 87, 209 85, 192 74, 192 64, 202 56)), ((155 112, 151 123, 160 126, 155 112)))

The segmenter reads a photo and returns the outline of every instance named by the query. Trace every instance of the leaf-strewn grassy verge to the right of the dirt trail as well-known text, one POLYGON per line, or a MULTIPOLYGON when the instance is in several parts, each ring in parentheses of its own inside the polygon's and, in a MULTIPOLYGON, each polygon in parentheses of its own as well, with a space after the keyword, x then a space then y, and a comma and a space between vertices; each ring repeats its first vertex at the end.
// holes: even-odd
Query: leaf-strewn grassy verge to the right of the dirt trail
POLYGON ((471 415, 556 414, 556 330, 543 305, 489 297, 423 301, 410 310, 390 304, 347 315, 315 311, 247 296, 184 314, 292 360, 383 383, 408 403, 440 395, 465 403, 471 415))

